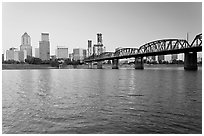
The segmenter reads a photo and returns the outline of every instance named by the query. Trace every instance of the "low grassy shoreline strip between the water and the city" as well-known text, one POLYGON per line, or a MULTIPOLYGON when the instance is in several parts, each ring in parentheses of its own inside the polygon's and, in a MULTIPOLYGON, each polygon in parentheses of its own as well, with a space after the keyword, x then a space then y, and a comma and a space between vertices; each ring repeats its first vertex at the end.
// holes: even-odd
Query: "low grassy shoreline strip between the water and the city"
MULTIPOLYGON (((158 67, 183 67, 183 64, 144 64, 147 68, 158 67)), ((198 67, 202 67, 202 64, 198 64, 198 67)), ((134 65, 123 64, 119 65, 120 68, 134 68, 134 65)), ((34 65, 34 64, 2 64, 2 70, 26 70, 26 69, 59 69, 58 67, 51 67, 49 64, 34 65)), ((88 65, 65 65, 61 69, 89 69, 88 65)), ((93 65, 93 69, 97 69, 96 65, 93 65)), ((112 69, 111 64, 103 64, 103 69, 112 69)))

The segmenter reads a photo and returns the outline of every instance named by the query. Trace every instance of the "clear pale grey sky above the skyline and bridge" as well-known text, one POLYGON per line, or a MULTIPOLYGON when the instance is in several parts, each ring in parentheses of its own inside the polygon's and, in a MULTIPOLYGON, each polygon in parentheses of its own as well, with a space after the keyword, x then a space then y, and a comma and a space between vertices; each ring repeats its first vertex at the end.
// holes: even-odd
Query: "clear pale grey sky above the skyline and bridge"
POLYGON ((165 39, 186 39, 191 43, 202 33, 201 2, 3 2, 2 51, 20 48, 21 36, 31 37, 33 54, 41 33, 48 32, 51 55, 57 46, 88 48, 102 33, 106 51, 117 47, 138 48, 165 39))

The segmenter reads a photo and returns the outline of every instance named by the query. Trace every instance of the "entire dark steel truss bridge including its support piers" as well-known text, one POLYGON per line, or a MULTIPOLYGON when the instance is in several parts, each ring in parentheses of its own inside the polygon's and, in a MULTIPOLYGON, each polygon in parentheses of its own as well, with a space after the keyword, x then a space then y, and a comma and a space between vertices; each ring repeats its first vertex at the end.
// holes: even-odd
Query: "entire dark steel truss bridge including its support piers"
POLYGON ((119 59, 135 58, 135 69, 144 69, 143 57, 184 53, 184 69, 197 70, 197 52, 202 51, 202 33, 195 36, 191 44, 184 39, 162 39, 146 43, 139 48, 121 48, 115 52, 104 52, 84 59, 92 68, 102 68, 102 61, 112 60, 112 68, 118 69, 119 59))

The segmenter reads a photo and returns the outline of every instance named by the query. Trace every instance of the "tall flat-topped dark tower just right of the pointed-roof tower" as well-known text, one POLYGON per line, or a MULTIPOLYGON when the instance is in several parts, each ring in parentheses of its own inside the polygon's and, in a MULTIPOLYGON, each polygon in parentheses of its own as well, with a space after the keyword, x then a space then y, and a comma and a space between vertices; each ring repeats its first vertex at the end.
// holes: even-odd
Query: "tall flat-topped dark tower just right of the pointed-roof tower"
POLYGON ((50 42, 48 33, 41 34, 41 41, 39 42, 39 58, 41 60, 50 60, 50 42))

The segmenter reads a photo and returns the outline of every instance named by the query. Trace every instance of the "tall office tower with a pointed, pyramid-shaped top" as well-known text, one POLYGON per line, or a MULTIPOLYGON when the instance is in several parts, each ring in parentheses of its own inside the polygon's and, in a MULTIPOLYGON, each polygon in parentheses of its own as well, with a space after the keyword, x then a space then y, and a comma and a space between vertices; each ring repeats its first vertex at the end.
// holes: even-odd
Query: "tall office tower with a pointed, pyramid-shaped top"
POLYGON ((21 37, 20 50, 21 51, 26 50, 27 56, 32 56, 31 38, 26 32, 21 37))

